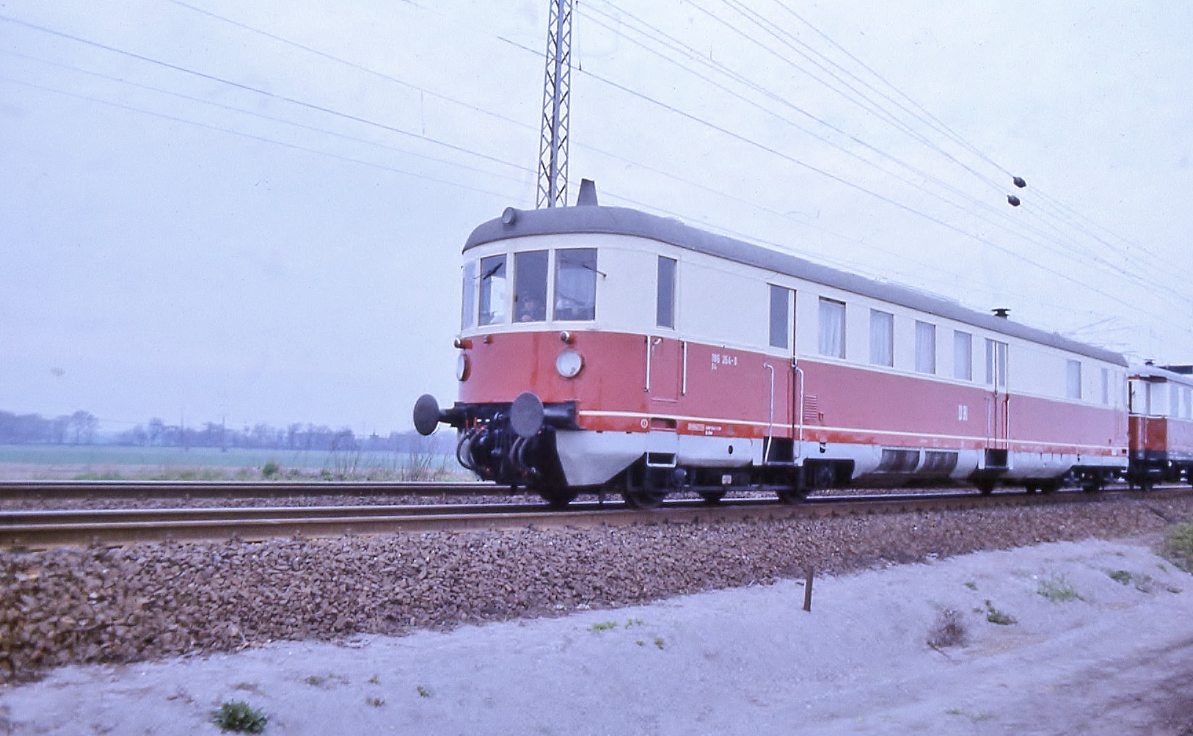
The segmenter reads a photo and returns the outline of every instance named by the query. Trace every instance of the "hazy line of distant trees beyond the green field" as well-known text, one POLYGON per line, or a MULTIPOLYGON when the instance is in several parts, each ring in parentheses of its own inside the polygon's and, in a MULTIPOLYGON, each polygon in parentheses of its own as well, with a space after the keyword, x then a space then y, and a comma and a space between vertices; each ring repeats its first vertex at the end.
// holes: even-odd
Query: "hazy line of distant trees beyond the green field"
MULTIPOLYGON (((43 418, 39 414, 13 414, 0 412, 0 444, 5 445, 92 445, 97 437, 99 420, 88 412, 43 418)), ((119 432, 103 439, 105 444, 141 447, 247 447, 266 450, 321 450, 330 452, 425 452, 427 440, 414 432, 390 432, 388 435, 370 434, 358 437, 344 427, 333 429, 324 425, 292 423, 274 427, 258 423, 240 429, 223 423, 203 422, 200 426, 167 425, 161 419, 150 419, 144 425, 119 432)), ((452 440, 445 434, 434 437, 433 444, 450 447, 452 440)))

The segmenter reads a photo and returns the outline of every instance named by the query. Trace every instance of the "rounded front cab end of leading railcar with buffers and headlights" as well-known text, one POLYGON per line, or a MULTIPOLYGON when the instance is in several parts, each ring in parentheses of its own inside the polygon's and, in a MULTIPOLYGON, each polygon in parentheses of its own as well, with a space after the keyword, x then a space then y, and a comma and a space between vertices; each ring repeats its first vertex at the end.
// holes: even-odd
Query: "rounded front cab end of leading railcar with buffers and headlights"
MULTIPOLYGON (((520 212, 507 209, 501 224, 520 212)), ((524 487, 556 506, 579 493, 569 484, 557 431, 576 431, 583 345, 598 307, 598 248, 550 236, 530 243, 465 246, 456 378, 460 401, 441 410, 419 398, 414 425, 459 432, 457 459, 482 480, 524 487), (583 342, 580 340, 579 342, 583 342), (545 402, 544 402, 545 397, 545 402)))

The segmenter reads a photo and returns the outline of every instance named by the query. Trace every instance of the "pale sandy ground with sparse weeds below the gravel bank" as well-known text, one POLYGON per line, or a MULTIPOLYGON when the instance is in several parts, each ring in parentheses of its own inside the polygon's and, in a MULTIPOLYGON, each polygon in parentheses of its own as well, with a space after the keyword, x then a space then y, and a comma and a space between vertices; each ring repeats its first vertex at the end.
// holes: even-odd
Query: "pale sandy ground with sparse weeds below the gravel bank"
POLYGON ((1150 540, 1044 544, 563 618, 68 667, 0 734, 1193 735, 1193 576, 1150 540), (964 645, 927 645, 942 612, 964 645), (1002 621, 991 623, 990 619, 1002 621), (1013 620, 1014 623, 1009 623, 1013 620))

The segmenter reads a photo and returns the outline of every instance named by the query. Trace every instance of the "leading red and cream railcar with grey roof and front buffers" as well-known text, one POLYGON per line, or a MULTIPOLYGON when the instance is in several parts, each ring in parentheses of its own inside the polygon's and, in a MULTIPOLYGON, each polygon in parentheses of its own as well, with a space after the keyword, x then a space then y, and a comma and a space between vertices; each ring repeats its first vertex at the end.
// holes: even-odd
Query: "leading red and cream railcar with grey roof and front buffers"
POLYGON ((464 246, 459 401, 415 426, 455 426, 481 477, 651 506, 1126 469, 1121 355, 589 200, 464 246))

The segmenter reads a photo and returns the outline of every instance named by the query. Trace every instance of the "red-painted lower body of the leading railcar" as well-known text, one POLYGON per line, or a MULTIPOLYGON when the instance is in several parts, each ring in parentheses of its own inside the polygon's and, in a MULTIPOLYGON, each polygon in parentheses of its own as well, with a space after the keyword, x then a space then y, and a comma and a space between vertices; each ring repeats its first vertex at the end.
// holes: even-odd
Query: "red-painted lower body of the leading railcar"
POLYGON ((509 402, 530 390, 545 403, 575 401, 587 429, 643 432, 651 418, 667 418, 684 434, 761 438, 772 416, 773 369, 769 433, 775 437, 798 434, 803 416, 802 438, 810 441, 1102 456, 1123 456, 1127 447, 1123 414, 1108 407, 995 396, 979 384, 814 360, 801 361, 801 386, 785 357, 670 336, 571 335, 570 345, 556 332, 471 338, 465 351, 471 375, 460 383, 460 401, 509 402), (585 366, 565 379, 556 373, 555 359, 569 347, 585 366))

